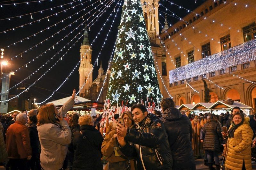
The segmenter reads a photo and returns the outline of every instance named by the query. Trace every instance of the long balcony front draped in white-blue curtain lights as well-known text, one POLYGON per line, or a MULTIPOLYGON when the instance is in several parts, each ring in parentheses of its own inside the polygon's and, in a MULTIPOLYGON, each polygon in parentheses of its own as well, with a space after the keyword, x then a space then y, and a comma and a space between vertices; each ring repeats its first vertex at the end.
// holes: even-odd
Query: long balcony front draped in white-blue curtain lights
POLYGON ((256 39, 169 71, 170 83, 256 60, 256 39))

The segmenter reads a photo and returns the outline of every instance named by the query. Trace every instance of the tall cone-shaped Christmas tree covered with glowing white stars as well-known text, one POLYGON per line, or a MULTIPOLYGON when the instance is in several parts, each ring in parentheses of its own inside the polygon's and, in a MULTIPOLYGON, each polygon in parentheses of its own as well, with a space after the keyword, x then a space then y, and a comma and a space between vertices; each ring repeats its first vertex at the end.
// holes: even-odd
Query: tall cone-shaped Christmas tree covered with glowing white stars
POLYGON ((128 106, 159 103, 161 92, 140 0, 125 0, 118 27, 107 99, 128 106))

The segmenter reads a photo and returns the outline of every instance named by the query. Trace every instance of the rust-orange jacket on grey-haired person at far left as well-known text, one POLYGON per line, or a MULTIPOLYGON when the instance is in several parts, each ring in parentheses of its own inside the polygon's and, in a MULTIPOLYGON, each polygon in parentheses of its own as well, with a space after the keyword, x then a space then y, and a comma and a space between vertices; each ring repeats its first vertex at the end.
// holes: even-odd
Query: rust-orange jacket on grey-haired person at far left
POLYGON ((24 159, 32 154, 29 130, 22 122, 16 121, 7 129, 6 150, 11 159, 24 159))

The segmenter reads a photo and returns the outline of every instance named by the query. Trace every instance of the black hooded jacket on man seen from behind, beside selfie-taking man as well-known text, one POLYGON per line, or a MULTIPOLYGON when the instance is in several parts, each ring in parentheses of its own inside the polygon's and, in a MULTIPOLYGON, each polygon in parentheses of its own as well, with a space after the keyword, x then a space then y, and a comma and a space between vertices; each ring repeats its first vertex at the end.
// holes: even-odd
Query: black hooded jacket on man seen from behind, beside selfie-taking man
POLYGON ((193 169, 196 166, 191 145, 192 126, 189 118, 176 108, 164 110, 164 123, 173 158, 173 169, 193 169))

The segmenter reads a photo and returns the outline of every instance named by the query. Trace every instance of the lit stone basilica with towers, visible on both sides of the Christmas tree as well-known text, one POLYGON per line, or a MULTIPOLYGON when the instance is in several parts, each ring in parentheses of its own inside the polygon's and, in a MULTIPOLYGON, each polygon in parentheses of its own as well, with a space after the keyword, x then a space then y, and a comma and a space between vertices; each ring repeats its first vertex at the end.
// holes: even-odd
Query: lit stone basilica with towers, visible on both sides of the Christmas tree
MULTIPOLYGON (((163 76, 166 76, 165 48, 164 45, 160 43, 160 39, 158 38, 159 25, 158 21, 156 20, 156 18, 158 18, 158 1, 159 0, 141 0, 141 4, 144 12, 146 27, 148 30, 149 41, 155 58, 155 65, 157 65, 158 68, 160 69, 159 72, 162 72, 161 69, 163 69, 163 76)), ((165 31, 168 28, 168 24, 167 22, 165 22, 165 27, 162 31, 165 31)), ((106 72, 104 72, 101 65, 98 71, 98 77, 95 80, 92 80, 92 73, 90 74, 90 71, 92 70, 92 47, 90 46, 89 35, 86 30, 84 32, 84 40, 80 48, 80 58, 81 63, 79 67, 79 88, 81 89, 82 86, 83 88, 79 92, 79 96, 90 100, 97 100, 100 93, 100 89, 103 85, 103 81, 105 79, 106 72), (87 78, 88 80, 86 81, 87 78)), ((157 68, 156 71, 158 72, 157 68)), ((99 98, 99 101, 101 102, 105 100, 105 97, 107 95, 110 69, 108 69, 107 72, 108 77, 106 79, 106 83, 104 84, 102 93, 99 98)), ((160 76, 162 76, 162 73, 160 74, 161 75, 157 75, 158 80, 160 80, 160 76)), ((163 93, 164 90, 162 81, 160 80, 158 82, 160 90, 163 93)))

